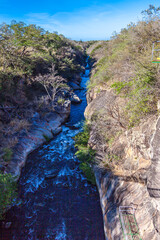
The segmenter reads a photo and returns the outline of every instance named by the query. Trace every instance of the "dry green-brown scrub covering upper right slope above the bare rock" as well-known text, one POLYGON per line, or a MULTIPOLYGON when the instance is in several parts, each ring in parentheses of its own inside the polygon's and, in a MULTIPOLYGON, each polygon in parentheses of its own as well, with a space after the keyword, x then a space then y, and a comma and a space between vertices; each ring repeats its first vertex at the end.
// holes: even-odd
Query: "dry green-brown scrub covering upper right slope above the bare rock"
POLYGON ((150 5, 142 13, 142 21, 129 24, 92 50, 97 63, 88 88, 111 87, 125 98, 128 127, 154 114, 159 99, 160 66, 151 62, 151 52, 152 42, 160 39, 160 8, 150 5))

